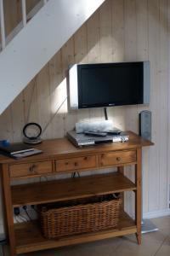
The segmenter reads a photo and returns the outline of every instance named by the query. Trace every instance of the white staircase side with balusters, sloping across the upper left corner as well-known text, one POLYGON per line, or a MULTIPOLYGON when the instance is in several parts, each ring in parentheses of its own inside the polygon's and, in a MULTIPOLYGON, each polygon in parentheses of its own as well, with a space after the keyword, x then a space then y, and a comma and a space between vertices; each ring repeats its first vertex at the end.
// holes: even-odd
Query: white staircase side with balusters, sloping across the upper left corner
POLYGON ((43 0, 26 16, 22 0, 22 22, 6 38, 0 0, 0 114, 104 2, 43 0))

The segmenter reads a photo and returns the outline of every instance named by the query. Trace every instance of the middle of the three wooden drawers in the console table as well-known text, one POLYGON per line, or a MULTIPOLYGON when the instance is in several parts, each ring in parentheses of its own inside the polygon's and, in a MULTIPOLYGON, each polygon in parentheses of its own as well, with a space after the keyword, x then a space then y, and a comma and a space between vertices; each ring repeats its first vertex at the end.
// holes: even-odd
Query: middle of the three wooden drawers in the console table
POLYGON ((56 172, 74 171, 96 167, 96 156, 82 156, 77 158, 56 160, 56 172))

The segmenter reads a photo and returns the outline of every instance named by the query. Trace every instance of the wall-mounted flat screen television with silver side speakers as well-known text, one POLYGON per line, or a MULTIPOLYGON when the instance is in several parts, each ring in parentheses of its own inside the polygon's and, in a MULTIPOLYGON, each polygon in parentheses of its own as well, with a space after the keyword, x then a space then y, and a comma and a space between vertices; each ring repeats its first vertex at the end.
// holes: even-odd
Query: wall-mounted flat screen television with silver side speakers
POLYGON ((149 104, 150 61, 76 64, 69 84, 71 109, 149 104))

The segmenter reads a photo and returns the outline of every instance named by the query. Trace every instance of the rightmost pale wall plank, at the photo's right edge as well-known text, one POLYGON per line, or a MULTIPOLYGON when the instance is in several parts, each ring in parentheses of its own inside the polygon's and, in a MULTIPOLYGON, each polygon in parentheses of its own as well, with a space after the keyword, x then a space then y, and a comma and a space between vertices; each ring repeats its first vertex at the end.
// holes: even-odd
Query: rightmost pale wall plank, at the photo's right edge
POLYGON ((158 102, 158 115, 159 119, 159 208, 166 209, 168 207, 167 201, 167 125, 168 125, 168 38, 167 38, 167 0, 160 1, 159 13, 159 102, 158 102))

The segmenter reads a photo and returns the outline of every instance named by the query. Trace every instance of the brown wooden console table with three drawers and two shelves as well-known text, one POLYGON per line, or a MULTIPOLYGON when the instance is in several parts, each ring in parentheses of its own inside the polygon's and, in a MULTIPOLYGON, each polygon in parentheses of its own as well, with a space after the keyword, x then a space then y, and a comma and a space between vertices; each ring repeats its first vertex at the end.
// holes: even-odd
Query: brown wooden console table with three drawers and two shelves
MULTIPOLYGON (((142 147, 153 145, 128 132, 127 143, 111 143, 87 148, 75 148, 66 138, 44 141, 36 148, 43 153, 22 160, 0 156, 3 199, 11 256, 42 249, 96 241, 114 236, 136 234, 141 243, 141 157, 142 147), (135 166, 135 183, 123 175, 123 167, 135 166), (43 183, 11 185, 12 180, 43 177, 66 172, 85 172, 116 166, 117 172, 88 177, 54 180, 43 183), (115 229, 90 234, 67 236, 56 240, 43 238, 37 222, 14 224, 14 207, 65 201, 93 195, 124 191, 135 193, 135 220, 122 210, 115 229)), ((95 174, 95 172, 94 172, 95 174)))

